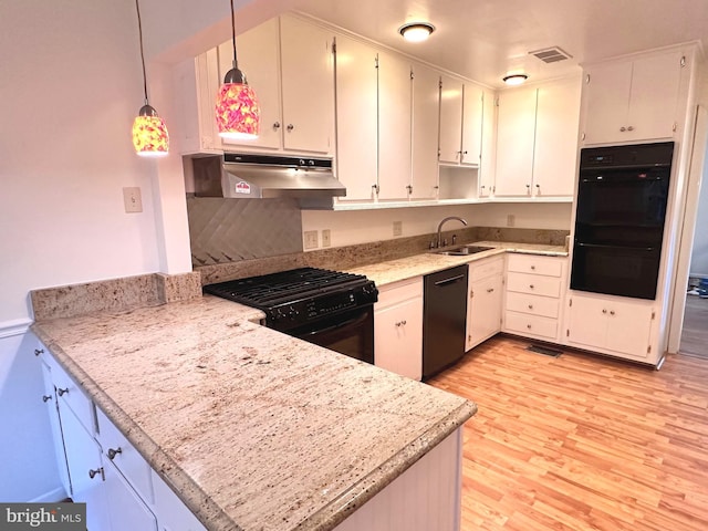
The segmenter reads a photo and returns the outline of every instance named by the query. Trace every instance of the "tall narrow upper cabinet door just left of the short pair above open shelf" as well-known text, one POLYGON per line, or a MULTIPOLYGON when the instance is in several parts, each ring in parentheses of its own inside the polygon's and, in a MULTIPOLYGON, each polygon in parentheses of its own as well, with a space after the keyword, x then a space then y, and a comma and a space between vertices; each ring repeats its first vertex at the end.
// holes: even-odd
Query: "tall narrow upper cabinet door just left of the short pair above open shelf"
POLYGON ((413 167, 410 199, 435 199, 438 192, 440 74, 413 66, 413 167))

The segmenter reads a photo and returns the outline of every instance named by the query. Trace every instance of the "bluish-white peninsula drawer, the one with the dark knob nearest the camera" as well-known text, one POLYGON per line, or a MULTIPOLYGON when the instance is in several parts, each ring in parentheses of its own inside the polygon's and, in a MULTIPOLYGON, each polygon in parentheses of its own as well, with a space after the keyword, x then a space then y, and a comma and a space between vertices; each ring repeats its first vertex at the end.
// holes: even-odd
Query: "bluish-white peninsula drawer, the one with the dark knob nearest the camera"
POLYGON ((153 503, 150 467, 115 425, 96 408, 98 442, 103 455, 121 471, 136 492, 148 503, 153 503), (113 450, 113 451, 112 451, 113 450), (114 454, 115 452, 115 454, 114 454), (111 459, 113 456, 113 459, 111 459))

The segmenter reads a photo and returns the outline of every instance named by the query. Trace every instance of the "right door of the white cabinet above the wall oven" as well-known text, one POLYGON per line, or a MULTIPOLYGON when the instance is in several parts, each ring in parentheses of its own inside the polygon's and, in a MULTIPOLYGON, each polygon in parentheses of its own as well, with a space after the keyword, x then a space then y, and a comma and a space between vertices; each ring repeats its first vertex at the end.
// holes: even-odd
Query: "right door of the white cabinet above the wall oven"
MULTIPOLYGON (((681 74, 681 52, 637 59, 632 67, 628 139, 670 138, 674 135, 681 74)), ((623 137, 624 138, 624 137, 623 137)))

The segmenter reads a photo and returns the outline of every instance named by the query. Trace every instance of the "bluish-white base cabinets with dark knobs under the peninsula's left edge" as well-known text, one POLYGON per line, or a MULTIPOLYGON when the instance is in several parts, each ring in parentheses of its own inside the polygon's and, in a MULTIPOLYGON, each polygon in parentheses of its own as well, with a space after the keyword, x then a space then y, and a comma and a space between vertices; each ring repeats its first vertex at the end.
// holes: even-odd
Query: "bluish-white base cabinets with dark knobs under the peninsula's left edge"
POLYGON ((83 394, 41 344, 52 435, 66 493, 86 503, 86 528, 100 530, 206 531, 148 462, 83 394))

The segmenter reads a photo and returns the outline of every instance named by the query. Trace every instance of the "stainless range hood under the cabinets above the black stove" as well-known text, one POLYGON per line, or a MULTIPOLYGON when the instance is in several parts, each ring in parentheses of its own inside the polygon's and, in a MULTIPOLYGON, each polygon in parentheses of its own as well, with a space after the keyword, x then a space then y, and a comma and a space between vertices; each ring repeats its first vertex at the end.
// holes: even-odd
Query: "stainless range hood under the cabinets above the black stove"
POLYGON ((332 159, 225 153, 192 159, 196 197, 294 198, 302 208, 329 208, 346 188, 332 159))

